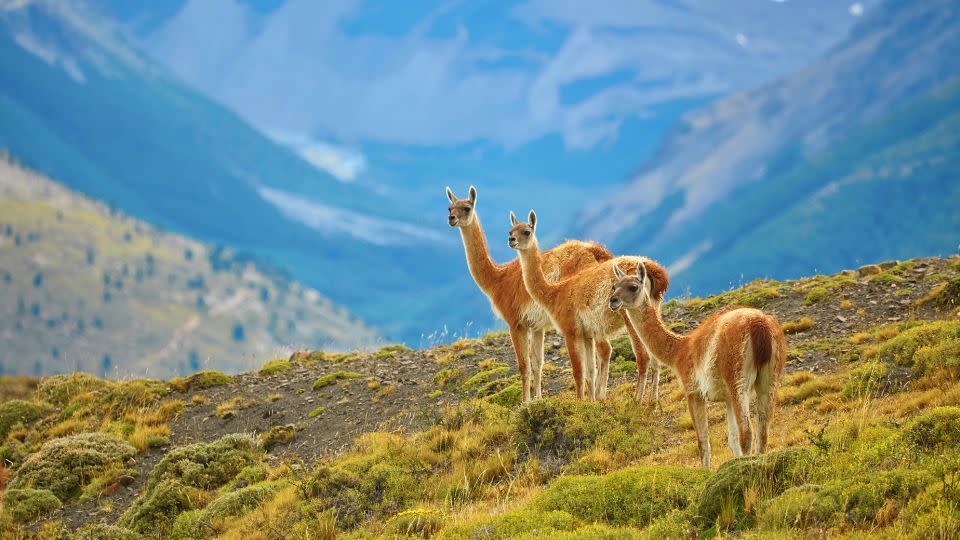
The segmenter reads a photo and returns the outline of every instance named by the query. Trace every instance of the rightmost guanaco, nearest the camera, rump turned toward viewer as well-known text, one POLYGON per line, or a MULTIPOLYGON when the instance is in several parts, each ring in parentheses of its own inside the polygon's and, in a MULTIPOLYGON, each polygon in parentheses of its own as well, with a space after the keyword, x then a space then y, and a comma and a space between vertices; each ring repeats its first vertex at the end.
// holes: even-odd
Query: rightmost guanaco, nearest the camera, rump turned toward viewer
POLYGON ((727 405, 727 442, 734 456, 750 453, 751 444, 754 452, 763 453, 787 360, 787 340, 777 318, 754 308, 731 307, 707 317, 688 334, 676 334, 663 323, 663 297, 654 292, 659 278, 649 273, 647 262, 629 275, 619 266, 614 269, 618 279, 610 308, 627 308, 644 345, 677 373, 687 393, 701 463, 710 466, 707 400, 727 405), (755 442, 750 425, 754 401, 755 442))

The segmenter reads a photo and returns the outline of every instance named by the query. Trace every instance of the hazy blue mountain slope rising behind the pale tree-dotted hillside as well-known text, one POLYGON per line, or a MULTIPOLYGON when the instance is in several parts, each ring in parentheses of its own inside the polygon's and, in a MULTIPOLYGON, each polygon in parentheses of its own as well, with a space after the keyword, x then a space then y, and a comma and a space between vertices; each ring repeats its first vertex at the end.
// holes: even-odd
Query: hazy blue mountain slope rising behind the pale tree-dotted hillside
POLYGON ((460 252, 442 215, 422 225, 321 172, 75 4, 0 2, 0 148, 134 217, 283 268, 395 339, 419 337, 395 306, 420 301, 422 280, 461 275, 434 264, 460 252))

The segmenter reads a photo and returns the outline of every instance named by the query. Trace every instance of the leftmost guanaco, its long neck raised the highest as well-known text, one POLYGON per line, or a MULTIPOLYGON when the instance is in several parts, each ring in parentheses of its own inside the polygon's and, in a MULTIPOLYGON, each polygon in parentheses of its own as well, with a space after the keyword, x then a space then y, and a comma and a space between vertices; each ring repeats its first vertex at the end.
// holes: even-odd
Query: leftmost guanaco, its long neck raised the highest
MULTIPOLYGON (((497 264, 490 257, 487 238, 474 208, 477 190, 470 186, 468 198, 458 199, 448 187, 447 197, 450 199, 447 220, 451 227, 460 229, 470 275, 490 299, 494 312, 510 329, 522 381, 523 400, 539 398, 542 392, 544 331, 552 327, 550 317, 527 294, 519 261, 514 259, 507 264, 497 264), (530 364, 532 370, 528 367, 530 364)), ((544 269, 555 281, 612 258, 613 255, 599 244, 568 240, 544 253, 544 269)), ((596 350, 601 358, 610 357, 609 342, 598 341, 596 350)))

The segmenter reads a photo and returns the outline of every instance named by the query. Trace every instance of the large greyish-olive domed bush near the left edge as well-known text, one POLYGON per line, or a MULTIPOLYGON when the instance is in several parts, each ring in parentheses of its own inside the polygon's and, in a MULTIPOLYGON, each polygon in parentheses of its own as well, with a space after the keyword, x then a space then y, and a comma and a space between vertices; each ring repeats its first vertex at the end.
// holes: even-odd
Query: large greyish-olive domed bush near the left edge
POLYGON ((53 439, 23 461, 10 487, 48 489, 67 502, 104 470, 118 468, 136 454, 136 448, 105 433, 53 439))

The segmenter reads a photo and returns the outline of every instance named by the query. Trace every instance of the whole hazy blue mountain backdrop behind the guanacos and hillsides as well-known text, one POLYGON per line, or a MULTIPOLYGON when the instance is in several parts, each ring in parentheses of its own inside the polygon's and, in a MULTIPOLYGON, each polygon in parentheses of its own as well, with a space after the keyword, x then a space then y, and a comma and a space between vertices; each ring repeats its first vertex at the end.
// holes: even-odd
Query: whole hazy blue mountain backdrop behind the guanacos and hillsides
MULTIPOLYGON (((671 295, 960 242, 960 2, 0 1, 0 147, 385 340, 496 326, 476 185, 671 295)), ((433 338, 429 336, 434 336, 433 338)), ((291 343, 290 345, 300 345, 291 343)))

